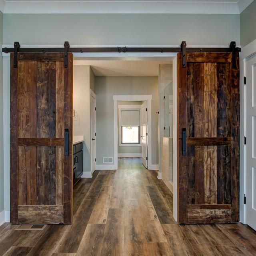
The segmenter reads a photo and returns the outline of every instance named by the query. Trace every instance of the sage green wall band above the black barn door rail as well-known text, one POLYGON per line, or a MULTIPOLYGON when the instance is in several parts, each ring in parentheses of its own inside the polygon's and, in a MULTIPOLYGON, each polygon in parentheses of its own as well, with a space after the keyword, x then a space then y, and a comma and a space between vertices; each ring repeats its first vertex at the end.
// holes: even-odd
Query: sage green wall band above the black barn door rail
POLYGON ((240 44, 238 14, 4 14, 4 44, 240 44))

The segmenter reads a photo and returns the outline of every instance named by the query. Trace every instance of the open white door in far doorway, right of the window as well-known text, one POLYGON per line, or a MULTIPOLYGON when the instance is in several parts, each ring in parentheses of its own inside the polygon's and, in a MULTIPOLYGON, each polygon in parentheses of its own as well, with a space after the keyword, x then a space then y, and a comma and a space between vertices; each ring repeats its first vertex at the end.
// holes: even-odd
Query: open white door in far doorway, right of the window
POLYGON ((144 101, 141 106, 141 153, 142 164, 148 168, 148 112, 147 102, 144 101))

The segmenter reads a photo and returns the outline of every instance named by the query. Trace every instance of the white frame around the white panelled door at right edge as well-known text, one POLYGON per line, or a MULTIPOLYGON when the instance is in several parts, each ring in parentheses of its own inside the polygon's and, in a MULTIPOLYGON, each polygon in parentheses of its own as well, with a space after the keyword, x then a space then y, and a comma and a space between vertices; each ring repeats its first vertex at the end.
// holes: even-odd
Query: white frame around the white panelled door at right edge
POLYGON ((244 145, 244 136, 250 140, 249 134, 246 134, 246 85, 244 85, 244 76, 246 76, 246 60, 256 54, 256 40, 250 42, 241 49, 240 53, 240 222, 246 222, 246 204, 244 204, 244 194, 246 195, 246 145, 244 145))

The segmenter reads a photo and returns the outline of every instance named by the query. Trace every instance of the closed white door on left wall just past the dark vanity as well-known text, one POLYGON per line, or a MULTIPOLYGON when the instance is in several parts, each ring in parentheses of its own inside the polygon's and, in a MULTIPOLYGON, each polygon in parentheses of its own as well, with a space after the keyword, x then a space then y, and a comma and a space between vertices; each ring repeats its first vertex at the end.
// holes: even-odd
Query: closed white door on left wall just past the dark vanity
POLYGON ((90 95, 90 106, 91 106, 91 114, 90 114, 91 165, 92 165, 92 172, 94 172, 96 168, 96 96, 92 91, 90 95))

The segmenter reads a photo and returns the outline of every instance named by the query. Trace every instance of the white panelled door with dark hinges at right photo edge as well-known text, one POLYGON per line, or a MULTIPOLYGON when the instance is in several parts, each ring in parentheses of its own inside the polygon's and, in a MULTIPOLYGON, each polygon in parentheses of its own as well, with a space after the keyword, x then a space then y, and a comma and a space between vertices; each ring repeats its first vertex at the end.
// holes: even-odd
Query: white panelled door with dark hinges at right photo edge
POLYGON ((246 61, 246 224, 256 230, 256 55, 246 61))

